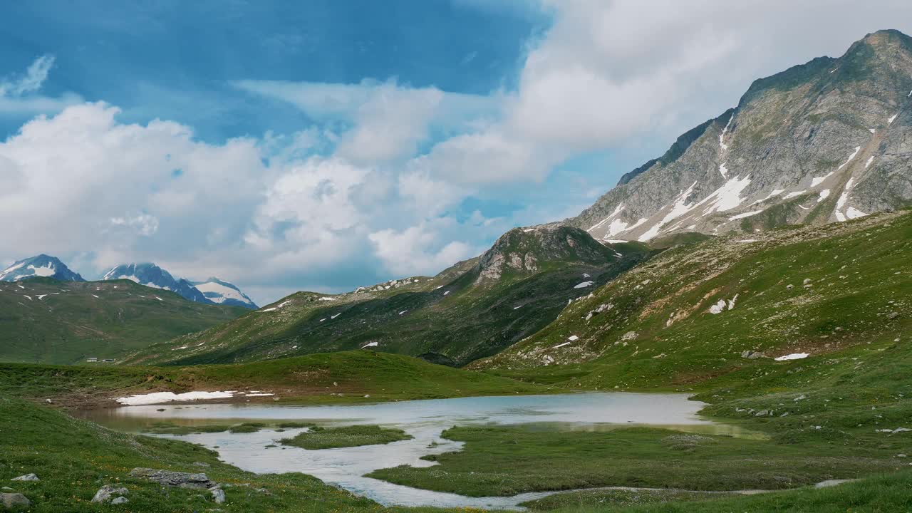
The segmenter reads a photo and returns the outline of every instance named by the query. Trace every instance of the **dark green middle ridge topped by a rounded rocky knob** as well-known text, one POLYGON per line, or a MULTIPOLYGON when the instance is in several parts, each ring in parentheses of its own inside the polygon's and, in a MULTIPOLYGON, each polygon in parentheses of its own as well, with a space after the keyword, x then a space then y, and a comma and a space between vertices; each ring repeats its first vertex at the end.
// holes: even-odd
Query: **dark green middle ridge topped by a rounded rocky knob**
POLYGON ((515 228, 436 277, 338 295, 298 292, 130 361, 242 362, 366 348, 464 365, 541 330, 569 301, 652 252, 639 243, 602 245, 572 226, 515 228))

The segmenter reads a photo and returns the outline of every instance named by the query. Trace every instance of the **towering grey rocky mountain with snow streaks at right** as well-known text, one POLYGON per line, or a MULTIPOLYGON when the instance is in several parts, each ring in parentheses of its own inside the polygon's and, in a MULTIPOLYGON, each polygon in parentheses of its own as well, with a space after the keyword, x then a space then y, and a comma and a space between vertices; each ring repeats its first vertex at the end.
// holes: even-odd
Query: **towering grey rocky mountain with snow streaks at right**
POLYGON ((912 204, 912 38, 866 36, 756 80, 734 109, 566 220, 597 239, 756 232, 912 204))

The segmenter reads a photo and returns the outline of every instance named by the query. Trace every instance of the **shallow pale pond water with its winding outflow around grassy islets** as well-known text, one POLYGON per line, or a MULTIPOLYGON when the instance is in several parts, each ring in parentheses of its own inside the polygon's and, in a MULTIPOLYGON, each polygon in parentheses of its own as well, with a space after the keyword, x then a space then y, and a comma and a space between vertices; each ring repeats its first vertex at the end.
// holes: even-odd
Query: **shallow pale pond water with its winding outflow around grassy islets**
MULTIPOLYGON (((545 497, 553 492, 514 497, 464 497, 393 485, 364 475, 391 466, 436 465, 435 462, 420 458, 461 450, 461 442, 440 438, 443 430, 454 425, 535 424, 542 429, 560 427, 596 430, 633 424, 706 434, 741 434, 737 427, 700 419, 697 412, 705 405, 689 401, 685 394, 675 393, 574 393, 462 397, 347 406, 155 404, 96 410, 86 412, 85 416, 122 431, 140 431, 153 423, 161 422, 194 425, 227 424, 228 421, 308 421, 321 425, 379 424, 398 427, 414 438, 387 445, 316 451, 278 443, 282 438, 304 431, 302 429, 168 436, 212 448, 218 451, 225 463, 250 472, 302 472, 386 506, 516 509, 524 501, 545 497), (164 411, 158 411, 160 409, 164 411)), ((610 462, 606 462, 606 465, 610 465, 610 462)))

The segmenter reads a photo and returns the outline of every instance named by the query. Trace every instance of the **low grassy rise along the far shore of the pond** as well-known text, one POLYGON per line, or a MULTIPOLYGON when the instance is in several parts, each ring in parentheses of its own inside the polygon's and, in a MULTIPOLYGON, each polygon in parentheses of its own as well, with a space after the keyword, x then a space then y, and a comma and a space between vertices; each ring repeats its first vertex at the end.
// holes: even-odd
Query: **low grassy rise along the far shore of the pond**
POLYGON ((113 404, 134 393, 216 390, 275 393, 253 401, 350 403, 548 393, 528 383, 373 351, 311 354, 193 367, 0 363, 0 393, 64 404, 113 404), (369 397, 365 397, 369 395, 369 397))

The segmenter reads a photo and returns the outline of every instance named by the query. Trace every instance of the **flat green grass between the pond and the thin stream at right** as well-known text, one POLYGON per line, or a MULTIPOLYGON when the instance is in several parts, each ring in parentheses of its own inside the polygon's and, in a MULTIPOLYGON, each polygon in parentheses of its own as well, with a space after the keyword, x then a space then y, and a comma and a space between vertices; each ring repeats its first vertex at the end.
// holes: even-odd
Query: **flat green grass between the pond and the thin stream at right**
POLYGON ((464 442, 463 450, 429 456, 438 466, 399 466, 369 476, 472 497, 587 487, 780 489, 895 470, 906 466, 896 454, 912 449, 912 436, 878 448, 843 445, 845 437, 833 433, 793 444, 645 427, 455 427, 443 436, 464 442))

